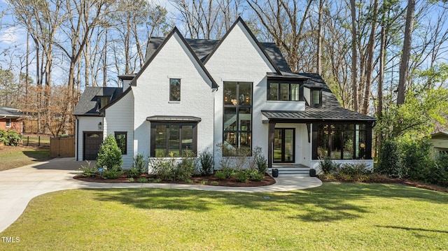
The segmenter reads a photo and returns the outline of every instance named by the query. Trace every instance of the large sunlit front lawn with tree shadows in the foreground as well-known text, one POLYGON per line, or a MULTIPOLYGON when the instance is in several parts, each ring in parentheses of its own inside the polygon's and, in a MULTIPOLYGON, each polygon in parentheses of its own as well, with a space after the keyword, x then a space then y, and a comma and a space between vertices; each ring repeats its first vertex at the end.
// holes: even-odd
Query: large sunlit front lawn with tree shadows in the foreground
POLYGON ((33 199, 0 249, 447 250, 447 215, 447 193, 404 185, 66 190, 33 199))

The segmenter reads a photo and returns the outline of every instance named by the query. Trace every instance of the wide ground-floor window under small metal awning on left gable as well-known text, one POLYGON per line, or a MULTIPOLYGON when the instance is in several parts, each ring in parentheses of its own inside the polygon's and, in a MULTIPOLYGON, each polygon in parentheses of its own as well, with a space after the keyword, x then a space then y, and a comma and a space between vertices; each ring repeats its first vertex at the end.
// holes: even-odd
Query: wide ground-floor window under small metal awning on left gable
POLYGON ((151 123, 151 157, 184 157, 197 152, 197 123, 151 123))

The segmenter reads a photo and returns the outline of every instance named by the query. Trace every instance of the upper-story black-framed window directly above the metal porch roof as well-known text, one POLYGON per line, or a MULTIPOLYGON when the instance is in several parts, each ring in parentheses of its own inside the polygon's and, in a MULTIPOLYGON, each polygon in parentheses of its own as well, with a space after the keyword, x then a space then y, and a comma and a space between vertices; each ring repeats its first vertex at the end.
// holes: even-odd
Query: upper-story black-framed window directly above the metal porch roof
POLYGON ((300 101, 300 84, 276 80, 268 81, 267 100, 300 101))

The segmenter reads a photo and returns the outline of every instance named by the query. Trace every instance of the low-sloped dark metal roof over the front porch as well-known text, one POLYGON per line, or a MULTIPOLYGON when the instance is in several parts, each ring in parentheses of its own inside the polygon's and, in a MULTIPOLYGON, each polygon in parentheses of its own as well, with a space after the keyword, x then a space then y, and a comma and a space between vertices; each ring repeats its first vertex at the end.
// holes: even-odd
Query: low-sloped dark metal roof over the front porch
POLYGON ((376 119, 367 115, 353 112, 344 108, 328 107, 328 108, 311 108, 307 107, 305 110, 262 110, 262 115, 265 115, 269 120, 286 121, 370 121, 376 119))

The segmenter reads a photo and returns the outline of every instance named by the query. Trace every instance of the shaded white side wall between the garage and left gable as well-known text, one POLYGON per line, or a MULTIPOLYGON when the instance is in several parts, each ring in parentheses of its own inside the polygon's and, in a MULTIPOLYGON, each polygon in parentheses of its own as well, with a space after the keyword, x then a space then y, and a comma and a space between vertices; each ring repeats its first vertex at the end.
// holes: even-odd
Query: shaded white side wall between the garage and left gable
POLYGON ((112 106, 106 108, 104 117, 104 138, 115 136, 116 131, 127 132, 127 154, 123 155, 123 168, 131 168, 134 150, 134 96, 132 90, 112 106))

